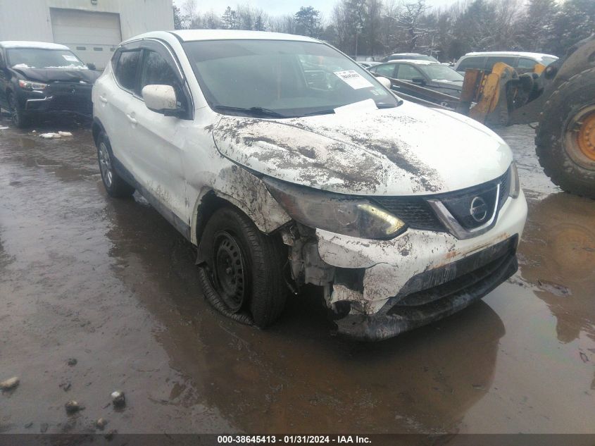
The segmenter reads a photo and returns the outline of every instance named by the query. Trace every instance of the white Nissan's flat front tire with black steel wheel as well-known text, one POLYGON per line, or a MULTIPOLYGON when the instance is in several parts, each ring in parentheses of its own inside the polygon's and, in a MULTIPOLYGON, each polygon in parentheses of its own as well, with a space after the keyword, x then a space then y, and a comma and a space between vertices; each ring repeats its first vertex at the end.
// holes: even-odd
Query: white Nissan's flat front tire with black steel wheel
POLYGON ((199 258, 201 287, 215 309, 260 328, 279 318, 287 299, 282 244, 244 213, 232 206, 215 211, 201 236, 199 258))

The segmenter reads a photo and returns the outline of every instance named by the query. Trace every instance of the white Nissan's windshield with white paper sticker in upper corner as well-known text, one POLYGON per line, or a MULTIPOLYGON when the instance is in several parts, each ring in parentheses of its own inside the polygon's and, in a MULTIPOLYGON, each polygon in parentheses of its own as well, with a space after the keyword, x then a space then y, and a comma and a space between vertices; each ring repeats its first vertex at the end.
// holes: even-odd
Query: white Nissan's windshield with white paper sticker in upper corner
POLYGON ((229 39, 187 42, 184 50, 220 113, 289 118, 366 99, 379 108, 398 105, 367 70, 325 44, 229 39))

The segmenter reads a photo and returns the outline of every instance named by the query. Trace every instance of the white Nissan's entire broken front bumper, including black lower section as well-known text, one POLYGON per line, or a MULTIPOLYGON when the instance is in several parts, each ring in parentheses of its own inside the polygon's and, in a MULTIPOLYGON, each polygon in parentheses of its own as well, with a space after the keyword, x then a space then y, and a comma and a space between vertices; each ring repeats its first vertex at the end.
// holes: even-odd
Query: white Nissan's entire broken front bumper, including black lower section
POLYGON ((334 266, 327 305, 340 309, 339 333, 382 340, 449 316, 517 271, 527 216, 524 195, 508 199, 491 230, 458 240, 408 230, 394 240, 363 240, 317 230, 320 259, 334 266))

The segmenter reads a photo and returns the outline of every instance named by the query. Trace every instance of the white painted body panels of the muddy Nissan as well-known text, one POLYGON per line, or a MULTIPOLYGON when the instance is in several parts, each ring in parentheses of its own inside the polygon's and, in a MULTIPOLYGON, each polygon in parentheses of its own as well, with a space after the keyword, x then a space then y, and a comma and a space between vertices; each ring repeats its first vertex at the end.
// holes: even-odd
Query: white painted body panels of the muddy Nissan
MULTIPOLYGON (((184 39, 207 39, 245 33, 178 34, 184 39)), ((394 109, 349 115, 222 116, 206 105, 180 42, 161 32, 144 37, 165 39, 177 54, 192 92, 194 120, 150 111, 142 98, 116 85, 110 66, 94 85, 94 115, 104 124, 115 157, 166 212, 192 227, 195 244, 199 205, 211 192, 242 209, 265 233, 291 220, 263 182, 238 164, 258 174, 343 194, 414 195, 461 190, 493 180, 512 161, 506 143, 480 123, 408 102, 394 109)), ((365 240, 324 230, 315 234, 318 252, 327 264, 366 268, 361 303, 364 311, 374 313, 413 275, 520 236, 526 214, 521 192, 504 204, 493 228, 470 239, 411 229, 394 240, 365 240)), ((335 291, 332 299, 348 295, 360 299, 358 293, 344 288, 335 291)))

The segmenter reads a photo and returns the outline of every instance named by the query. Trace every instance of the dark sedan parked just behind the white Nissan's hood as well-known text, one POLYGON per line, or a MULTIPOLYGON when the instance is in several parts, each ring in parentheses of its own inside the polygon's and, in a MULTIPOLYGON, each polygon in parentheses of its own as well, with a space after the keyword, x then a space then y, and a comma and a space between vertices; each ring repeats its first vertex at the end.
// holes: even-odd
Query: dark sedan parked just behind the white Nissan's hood
MULTIPOLYGON (((388 62, 373 66, 369 68, 369 71, 375 75, 404 80, 436 92, 450 94, 457 98, 461 96, 463 80, 465 79, 461 73, 457 73, 452 68, 444 66, 441 63, 429 61, 388 62)), ((392 89, 398 93, 403 87, 393 85, 392 89)), ((430 100, 420 92, 407 90, 406 93, 420 97, 421 99, 430 100)), ((449 104, 444 105, 449 106, 449 104)))

